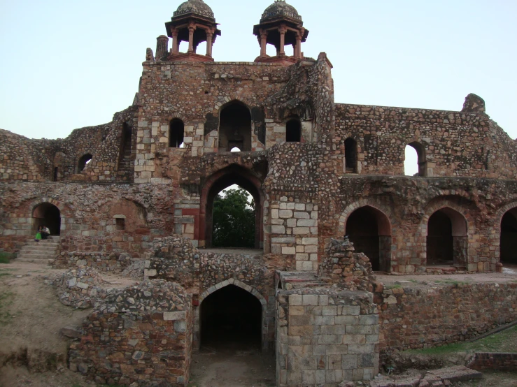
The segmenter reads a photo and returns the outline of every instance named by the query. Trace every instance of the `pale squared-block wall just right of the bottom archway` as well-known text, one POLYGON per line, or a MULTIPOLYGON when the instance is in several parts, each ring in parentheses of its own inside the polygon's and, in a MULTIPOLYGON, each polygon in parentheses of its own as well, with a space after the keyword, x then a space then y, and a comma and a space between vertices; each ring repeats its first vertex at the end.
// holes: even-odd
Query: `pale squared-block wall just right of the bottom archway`
POLYGON ((378 315, 371 293, 280 291, 277 386, 332 386, 378 373, 378 315))

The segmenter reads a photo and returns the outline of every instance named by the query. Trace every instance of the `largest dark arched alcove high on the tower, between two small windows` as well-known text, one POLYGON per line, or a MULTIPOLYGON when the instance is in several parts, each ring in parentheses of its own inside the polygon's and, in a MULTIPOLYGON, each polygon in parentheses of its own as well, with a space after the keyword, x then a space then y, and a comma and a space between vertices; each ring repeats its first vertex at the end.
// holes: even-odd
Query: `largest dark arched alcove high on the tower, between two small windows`
POLYGON ((219 150, 230 152, 235 147, 251 151, 251 112, 241 101, 227 103, 219 115, 219 150))

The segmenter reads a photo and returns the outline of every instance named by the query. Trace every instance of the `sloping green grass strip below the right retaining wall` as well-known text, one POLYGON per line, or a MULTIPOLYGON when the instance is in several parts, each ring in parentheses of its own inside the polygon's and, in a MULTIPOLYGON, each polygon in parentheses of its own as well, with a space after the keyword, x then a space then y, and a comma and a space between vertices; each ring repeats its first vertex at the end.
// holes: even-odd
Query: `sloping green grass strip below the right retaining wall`
POLYGON ((423 355, 443 355, 454 352, 517 352, 517 326, 472 343, 448 344, 408 352, 423 355))

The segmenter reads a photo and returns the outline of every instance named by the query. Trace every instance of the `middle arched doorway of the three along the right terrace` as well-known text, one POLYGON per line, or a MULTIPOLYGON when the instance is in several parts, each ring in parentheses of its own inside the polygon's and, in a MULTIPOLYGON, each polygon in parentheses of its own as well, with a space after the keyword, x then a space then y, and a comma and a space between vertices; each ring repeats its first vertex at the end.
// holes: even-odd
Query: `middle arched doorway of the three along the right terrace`
POLYGON ((427 266, 467 265, 467 220, 460 212, 445 207, 427 222, 427 266))

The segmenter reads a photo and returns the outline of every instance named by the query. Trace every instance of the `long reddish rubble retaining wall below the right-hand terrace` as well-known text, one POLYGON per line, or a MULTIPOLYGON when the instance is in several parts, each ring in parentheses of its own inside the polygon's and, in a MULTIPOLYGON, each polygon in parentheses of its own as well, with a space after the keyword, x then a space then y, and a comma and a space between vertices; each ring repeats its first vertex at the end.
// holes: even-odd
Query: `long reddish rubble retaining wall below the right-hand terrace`
POLYGON ((460 342, 514 321, 517 284, 376 289, 381 351, 460 342))

